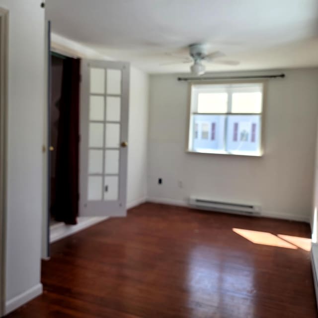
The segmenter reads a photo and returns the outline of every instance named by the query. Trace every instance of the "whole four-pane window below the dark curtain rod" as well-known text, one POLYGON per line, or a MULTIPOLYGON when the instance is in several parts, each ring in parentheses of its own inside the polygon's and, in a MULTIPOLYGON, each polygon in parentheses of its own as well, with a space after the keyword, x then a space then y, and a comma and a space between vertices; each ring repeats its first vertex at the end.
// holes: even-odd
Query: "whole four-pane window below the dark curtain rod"
POLYGON ((192 84, 188 150, 261 156, 263 86, 192 84))

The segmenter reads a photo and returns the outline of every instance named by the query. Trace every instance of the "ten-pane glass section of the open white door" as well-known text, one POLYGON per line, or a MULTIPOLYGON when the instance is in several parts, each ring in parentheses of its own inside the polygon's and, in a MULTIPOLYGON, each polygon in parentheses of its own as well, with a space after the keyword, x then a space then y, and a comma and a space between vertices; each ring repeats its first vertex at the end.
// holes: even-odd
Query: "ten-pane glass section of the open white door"
POLYGON ((88 200, 119 199, 122 71, 90 68, 88 200))

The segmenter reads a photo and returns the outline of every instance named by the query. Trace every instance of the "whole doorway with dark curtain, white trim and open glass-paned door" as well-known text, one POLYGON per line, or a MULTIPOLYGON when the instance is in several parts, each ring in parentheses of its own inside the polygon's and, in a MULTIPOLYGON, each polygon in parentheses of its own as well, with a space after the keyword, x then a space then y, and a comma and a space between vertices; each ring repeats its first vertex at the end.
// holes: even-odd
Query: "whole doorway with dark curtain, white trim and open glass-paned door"
POLYGON ((75 52, 71 48, 61 49, 53 44, 51 52, 51 46, 48 47, 49 95, 52 95, 44 148, 50 150, 46 152, 44 184, 48 199, 44 219, 51 222, 44 225, 44 259, 49 258, 51 242, 109 216, 126 216, 130 69, 128 63, 83 60, 78 53, 72 58, 75 52), (68 62, 77 63, 80 71, 80 76, 79 72, 75 76, 77 81, 74 70, 66 72, 68 62), (77 102, 70 100, 74 85, 80 88, 79 94, 76 90, 77 102))

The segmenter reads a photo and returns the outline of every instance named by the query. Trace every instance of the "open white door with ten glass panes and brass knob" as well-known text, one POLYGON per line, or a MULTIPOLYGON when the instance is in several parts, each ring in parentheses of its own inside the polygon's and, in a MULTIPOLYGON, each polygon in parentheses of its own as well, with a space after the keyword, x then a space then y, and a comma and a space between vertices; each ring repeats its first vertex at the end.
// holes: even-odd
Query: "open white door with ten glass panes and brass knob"
POLYGON ((79 216, 126 216, 129 64, 81 62, 79 216))

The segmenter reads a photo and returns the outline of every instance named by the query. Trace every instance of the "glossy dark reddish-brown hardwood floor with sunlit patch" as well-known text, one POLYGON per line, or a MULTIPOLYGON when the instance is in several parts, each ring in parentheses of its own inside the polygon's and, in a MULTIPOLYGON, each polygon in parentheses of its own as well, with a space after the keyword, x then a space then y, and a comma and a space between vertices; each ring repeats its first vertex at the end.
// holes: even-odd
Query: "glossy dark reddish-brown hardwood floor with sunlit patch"
POLYGON ((7 317, 317 318, 298 238, 308 224, 143 204, 54 243, 43 295, 7 317))

